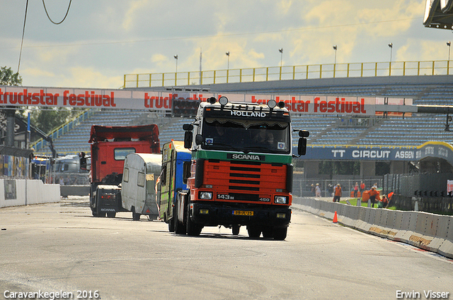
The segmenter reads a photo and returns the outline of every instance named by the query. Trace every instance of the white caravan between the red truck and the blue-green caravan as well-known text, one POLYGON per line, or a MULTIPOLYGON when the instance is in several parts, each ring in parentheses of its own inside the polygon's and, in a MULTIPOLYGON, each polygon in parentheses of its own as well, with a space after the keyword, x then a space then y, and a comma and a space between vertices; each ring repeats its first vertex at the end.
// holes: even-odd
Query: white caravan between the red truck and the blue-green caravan
POLYGON ((130 153, 125 158, 122 173, 122 208, 132 212, 132 220, 147 215, 149 220, 159 217, 156 203, 156 181, 161 173, 162 156, 149 153, 130 153))

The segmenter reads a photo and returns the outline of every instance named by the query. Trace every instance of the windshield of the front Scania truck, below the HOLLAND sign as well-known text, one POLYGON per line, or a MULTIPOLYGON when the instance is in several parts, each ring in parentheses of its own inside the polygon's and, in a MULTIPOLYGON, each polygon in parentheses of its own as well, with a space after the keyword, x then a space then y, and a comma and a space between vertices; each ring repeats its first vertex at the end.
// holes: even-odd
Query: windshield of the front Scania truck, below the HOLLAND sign
POLYGON ((285 122, 224 121, 206 118, 202 124, 203 149, 285 153, 291 150, 285 122))

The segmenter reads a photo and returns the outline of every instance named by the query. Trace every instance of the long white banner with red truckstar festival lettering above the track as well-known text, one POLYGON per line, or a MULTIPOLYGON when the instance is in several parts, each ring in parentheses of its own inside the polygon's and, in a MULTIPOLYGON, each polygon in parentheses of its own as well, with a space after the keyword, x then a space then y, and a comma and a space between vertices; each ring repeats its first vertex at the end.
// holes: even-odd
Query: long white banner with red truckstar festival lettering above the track
MULTIPOLYGON (((299 114, 350 114, 374 116, 376 104, 384 98, 306 95, 216 94, 206 92, 154 92, 80 88, 33 88, 0 85, 0 107, 79 107, 109 109, 169 110, 173 100, 207 101, 226 96, 230 102, 283 101, 289 111, 299 114)), ((412 100, 392 98, 391 103, 411 105, 412 100)), ((391 104, 389 102, 389 104, 391 104)))

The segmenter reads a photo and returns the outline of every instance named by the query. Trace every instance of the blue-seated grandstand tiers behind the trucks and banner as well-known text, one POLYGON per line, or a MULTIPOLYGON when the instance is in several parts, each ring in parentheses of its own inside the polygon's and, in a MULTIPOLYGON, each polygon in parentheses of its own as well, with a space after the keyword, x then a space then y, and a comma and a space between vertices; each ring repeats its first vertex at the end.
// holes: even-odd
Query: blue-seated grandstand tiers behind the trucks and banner
MULTIPOLYGON (((339 95, 362 97, 411 98, 413 104, 453 104, 453 76, 383 76, 372 78, 326 78, 276 80, 255 83, 190 85, 211 92, 253 92, 273 95, 339 95)), ((139 88, 165 90, 165 88, 139 88)), ((341 115, 292 114, 293 127, 310 131, 308 145, 382 145, 418 146, 427 141, 453 143, 453 133, 445 131, 445 115, 412 114, 411 116, 372 116, 351 118, 341 115)), ((54 138, 59 154, 89 152, 91 125, 125 126, 158 124, 161 143, 183 138, 182 124, 190 119, 171 118, 169 112, 133 110, 99 110, 67 133, 54 138)), ((48 148, 36 147, 45 154, 48 148)))

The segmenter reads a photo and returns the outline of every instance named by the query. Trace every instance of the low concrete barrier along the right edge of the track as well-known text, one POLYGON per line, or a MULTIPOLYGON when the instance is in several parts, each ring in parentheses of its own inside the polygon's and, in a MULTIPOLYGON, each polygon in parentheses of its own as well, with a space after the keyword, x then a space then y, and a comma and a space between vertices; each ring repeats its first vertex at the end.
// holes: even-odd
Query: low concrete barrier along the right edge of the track
POLYGON ((429 212, 386 210, 294 197, 294 208, 333 219, 348 227, 401 241, 453 258, 453 216, 429 212))

